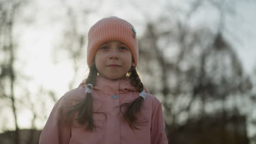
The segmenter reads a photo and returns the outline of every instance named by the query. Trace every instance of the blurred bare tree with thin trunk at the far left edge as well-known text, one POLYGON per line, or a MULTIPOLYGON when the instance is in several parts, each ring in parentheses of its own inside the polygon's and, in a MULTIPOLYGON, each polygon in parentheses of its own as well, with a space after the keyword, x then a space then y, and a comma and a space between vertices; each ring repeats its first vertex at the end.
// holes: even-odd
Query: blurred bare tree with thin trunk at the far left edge
POLYGON ((16 14, 19 11, 22 1, 1 1, 0 3, 0 51, 1 55, 1 75, 0 75, 0 86, 1 86, 1 99, 10 100, 10 106, 14 117, 15 124, 15 143, 19 141, 19 125, 17 117, 16 98, 14 95, 14 87, 16 80, 16 71, 14 64, 16 61, 16 43, 13 37, 13 28, 15 24, 16 14), (7 91, 9 89, 9 92, 7 91))

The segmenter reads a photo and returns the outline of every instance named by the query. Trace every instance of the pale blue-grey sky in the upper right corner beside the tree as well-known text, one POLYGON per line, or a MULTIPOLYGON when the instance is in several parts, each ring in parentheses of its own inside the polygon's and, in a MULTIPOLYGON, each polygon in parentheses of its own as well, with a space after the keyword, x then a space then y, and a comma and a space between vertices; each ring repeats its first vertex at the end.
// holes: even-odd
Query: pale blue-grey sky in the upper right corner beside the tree
POLYGON ((240 1, 237 5, 237 17, 227 21, 232 23, 228 27, 228 35, 235 44, 246 72, 252 73, 253 67, 256 68, 256 3, 240 1))

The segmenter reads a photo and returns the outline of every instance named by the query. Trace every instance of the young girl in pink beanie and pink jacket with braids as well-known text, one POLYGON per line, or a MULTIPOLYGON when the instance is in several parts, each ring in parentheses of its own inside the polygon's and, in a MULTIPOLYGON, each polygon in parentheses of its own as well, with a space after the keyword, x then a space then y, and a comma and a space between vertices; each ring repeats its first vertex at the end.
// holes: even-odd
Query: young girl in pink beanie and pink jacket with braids
POLYGON ((135 28, 118 17, 95 23, 88 33, 90 73, 53 107, 39 143, 168 143, 158 99, 136 71, 135 28))

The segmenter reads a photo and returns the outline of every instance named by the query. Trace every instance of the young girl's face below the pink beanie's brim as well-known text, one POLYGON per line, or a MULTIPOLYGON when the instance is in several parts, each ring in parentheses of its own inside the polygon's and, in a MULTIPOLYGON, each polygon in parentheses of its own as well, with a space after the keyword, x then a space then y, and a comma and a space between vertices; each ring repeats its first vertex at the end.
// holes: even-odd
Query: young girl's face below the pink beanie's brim
POLYGON ((98 74, 108 79, 119 79, 131 66, 135 67, 129 47, 119 41, 101 45, 95 54, 95 64, 98 74))

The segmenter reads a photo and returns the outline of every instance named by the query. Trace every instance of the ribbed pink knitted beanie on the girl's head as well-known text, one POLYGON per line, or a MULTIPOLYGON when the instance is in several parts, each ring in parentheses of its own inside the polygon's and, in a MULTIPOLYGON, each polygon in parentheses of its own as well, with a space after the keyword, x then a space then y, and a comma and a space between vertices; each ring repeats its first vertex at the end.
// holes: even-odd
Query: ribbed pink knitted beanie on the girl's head
POLYGON ((129 47, 135 64, 138 64, 138 41, 131 23, 111 16, 101 19, 88 33, 87 64, 90 67, 98 48, 108 41, 119 41, 129 47))

